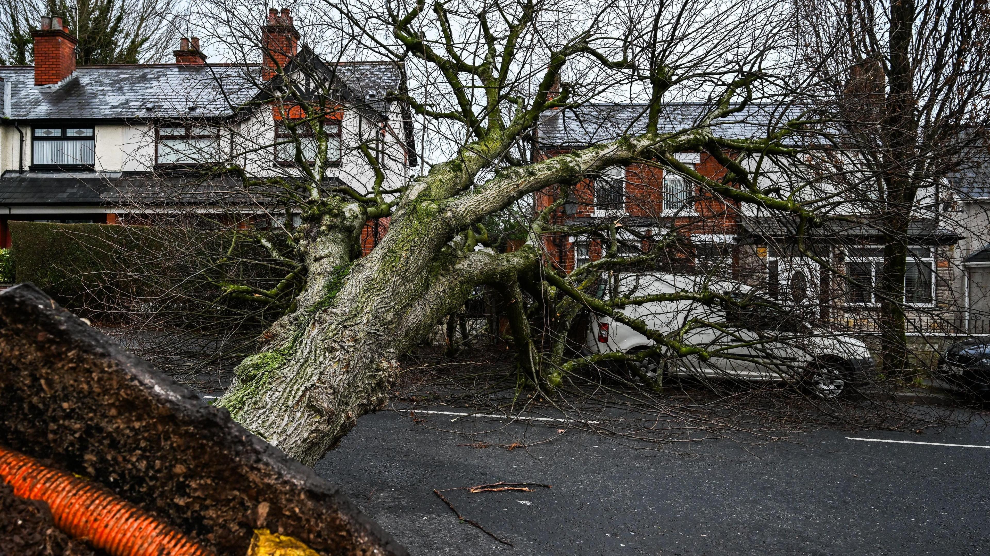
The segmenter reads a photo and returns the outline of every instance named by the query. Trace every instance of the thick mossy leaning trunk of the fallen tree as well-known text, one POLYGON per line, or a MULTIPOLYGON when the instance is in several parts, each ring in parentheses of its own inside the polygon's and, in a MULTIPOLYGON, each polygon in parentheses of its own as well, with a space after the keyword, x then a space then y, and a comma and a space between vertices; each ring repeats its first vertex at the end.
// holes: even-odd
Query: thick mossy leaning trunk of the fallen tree
POLYGON ((303 246, 314 251, 306 253, 312 262, 297 311, 265 331, 263 350, 238 366, 219 405, 312 465, 357 417, 383 407, 399 356, 463 305, 475 285, 512 278, 535 260, 534 249, 452 248, 443 216, 430 205, 397 211, 375 249, 352 262, 342 253, 356 233, 320 227, 303 246))

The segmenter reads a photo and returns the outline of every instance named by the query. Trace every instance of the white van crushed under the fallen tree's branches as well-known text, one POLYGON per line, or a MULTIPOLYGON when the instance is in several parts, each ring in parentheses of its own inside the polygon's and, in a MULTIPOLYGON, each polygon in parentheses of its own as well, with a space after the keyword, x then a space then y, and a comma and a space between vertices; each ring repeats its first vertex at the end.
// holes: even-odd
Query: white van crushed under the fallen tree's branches
MULTIPOLYGON (((740 300, 755 300, 762 305, 731 310, 728 315, 721 306, 710 307, 697 301, 651 301, 626 306, 621 310, 624 315, 640 319, 650 329, 664 334, 680 330, 684 344, 713 354, 703 361, 697 355, 676 357, 663 352, 640 366, 647 377, 661 374, 797 382, 806 384, 821 398, 838 398, 850 381, 865 378, 872 372, 873 359, 863 342, 802 324, 801 319, 794 318, 800 315, 800 308, 787 311, 775 302, 757 300, 753 288, 738 282, 705 276, 624 273, 609 276, 607 281, 603 279, 598 297, 635 299, 705 290, 740 300), (699 321, 717 327, 691 325, 699 321)), ((653 344, 626 324, 610 317, 591 316, 586 347, 592 353, 635 353, 653 344)))

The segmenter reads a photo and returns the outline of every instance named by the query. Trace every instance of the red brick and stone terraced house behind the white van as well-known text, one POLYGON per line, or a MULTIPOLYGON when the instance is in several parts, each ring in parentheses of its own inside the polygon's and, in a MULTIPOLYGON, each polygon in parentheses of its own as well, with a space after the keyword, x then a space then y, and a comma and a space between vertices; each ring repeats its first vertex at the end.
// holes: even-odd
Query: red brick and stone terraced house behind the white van
MULTIPOLYGON (((660 118, 661 133, 677 133, 697 127, 710 106, 670 104, 660 118)), ((589 104, 545 115, 537 132, 540 156, 554 156, 575 148, 642 133, 646 105, 633 103, 589 104)), ((727 139, 758 139, 779 129, 785 108, 749 105, 718 123, 714 133, 727 139)), ((718 180, 726 171, 708 152, 677 154, 703 176, 718 180)), ((752 164, 751 161, 745 162, 752 164)), ((800 172, 764 167, 764 187, 790 191, 800 172)), ((977 297, 977 280, 968 290, 960 284, 963 262, 956 243, 972 233, 972 219, 960 221, 944 213, 954 210, 943 202, 937 187, 923 190, 908 230, 911 255, 905 280, 905 304, 909 335, 931 337, 964 331, 967 312, 970 329, 974 316, 986 319, 986 295, 977 297), (967 232, 968 230, 968 232, 967 232), (965 232, 965 233, 964 233, 965 232), (964 301, 970 292, 969 305, 964 301), (967 307, 979 305, 979 310, 967 307)), ((751 205, 742 206, 692 185, 685 177, 650 164, 615 166, 576 184, 566 202, 553 211, 550 223, 569 232, 545 234, 545 256, 559 268, 572 270, 604 256, 611 244, 608 229, 616 228, 617 254, 632 256, 650 248, 653 241, 676 232, 677 239, 655 263, 660 271, 708 273, 731 277, 760 287, 782 305, 800 310, 809 320, 830 327, 872 332, 876 329, 879 299, 875 294, 882 262, 883 233, 869 223, 863 204, 841 202, 830 193, 833 215, 857 217, 830 222, 807 237, 820 260, 829 261, 830 273, 820 262, 797 248, 797 222, 751 205), (836 273, 840 275, 837 275, 836 273), (845 274, 851 280, 841 277, 845 274)), ((538 193, 538 211, 550 206, 560 192, 538 193)), ((986 230, 985 222, 980 224, 986 230)), ((988 250, 982 240, 966 251, 968 275, 977 276, 988 250), (978 244, 977 244, 978 243, 978 244), (977 252, 978 251, 978 252, 977 252), (980 258, 983 257, 983 258, 980 258)), ((982 291, 982 290, 981 290, 982 291)))

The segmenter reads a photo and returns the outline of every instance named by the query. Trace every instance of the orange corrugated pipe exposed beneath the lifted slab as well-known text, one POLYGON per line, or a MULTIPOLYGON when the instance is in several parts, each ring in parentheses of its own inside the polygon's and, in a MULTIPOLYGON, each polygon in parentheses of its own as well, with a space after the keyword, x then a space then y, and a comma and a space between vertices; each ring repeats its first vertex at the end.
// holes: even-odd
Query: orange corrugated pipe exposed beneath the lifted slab
POLYGON ((213 556, 181 531, 91 482, 0 446, 0 479, 14 494, 45 501, 55 525, 110 556, 213 556))

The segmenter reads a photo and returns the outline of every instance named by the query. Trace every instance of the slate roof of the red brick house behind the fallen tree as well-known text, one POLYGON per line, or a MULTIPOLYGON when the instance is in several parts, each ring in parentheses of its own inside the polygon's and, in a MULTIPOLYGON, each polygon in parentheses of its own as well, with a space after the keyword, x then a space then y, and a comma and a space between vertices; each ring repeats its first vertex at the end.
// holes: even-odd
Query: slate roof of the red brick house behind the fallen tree
MULTIPOLYGON (((692 129, 711 110, 711 104, 671 103, 664 106, 660 133, 692 129)), ((638 135, 645 131, 648 106, 644 103, 592 103, 545 112, 538 137, 545 146, 583 146, 638 135)), ((731 139, 756 139, 776 131, 794 108, 750 104, 738 114, 713 123, 713 133, 731 139)))

